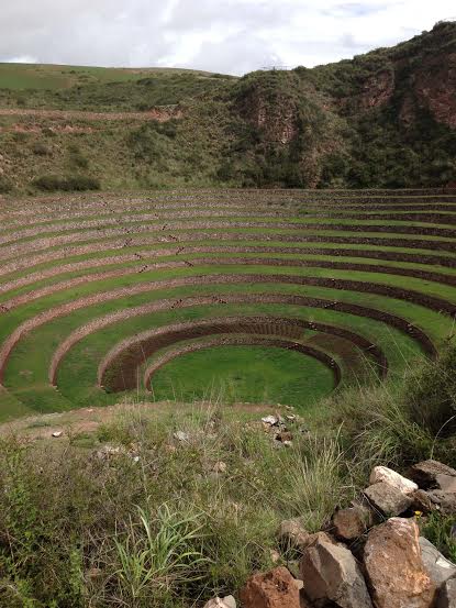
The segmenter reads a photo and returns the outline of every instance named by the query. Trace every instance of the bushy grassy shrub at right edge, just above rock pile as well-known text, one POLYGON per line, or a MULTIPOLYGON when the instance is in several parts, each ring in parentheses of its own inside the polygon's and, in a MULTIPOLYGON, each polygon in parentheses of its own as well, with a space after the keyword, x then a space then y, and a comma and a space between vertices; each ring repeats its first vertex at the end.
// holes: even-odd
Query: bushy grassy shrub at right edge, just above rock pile
POLYGON ((404 468, 425 457, 456 465, 455 371, 453 347, 436 361, 414 362, 403 378, 330 399, 363 475, 377 464, 404 468))

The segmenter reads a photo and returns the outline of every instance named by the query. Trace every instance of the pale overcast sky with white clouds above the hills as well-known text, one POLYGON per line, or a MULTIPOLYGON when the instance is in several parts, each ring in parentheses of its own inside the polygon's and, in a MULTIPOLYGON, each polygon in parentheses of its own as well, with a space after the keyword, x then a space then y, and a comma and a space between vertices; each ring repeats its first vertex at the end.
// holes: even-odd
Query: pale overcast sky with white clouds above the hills
POLYGON ((456 19, 454 0, 0 0, 0 60, 308 67, 456 19))

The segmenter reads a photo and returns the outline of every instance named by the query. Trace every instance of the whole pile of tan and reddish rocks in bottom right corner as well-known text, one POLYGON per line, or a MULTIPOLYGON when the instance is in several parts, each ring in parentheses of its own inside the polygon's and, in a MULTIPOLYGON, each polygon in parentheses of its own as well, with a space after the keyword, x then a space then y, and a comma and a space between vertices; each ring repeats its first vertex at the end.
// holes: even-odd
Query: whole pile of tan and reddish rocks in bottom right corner
MULTIPOLYGON (((425 461, 403 477, 379 466, 369 483, 324 531, 309 533, 299 518, 283 521, 281 556, 298 561, 254 574, 241 590, 242 606, 456 608, 456 565, 420 537, 418 524, 433 511, 456 515, 456 471, 425 461)), ((211 603, 208 608, 225 605, 211 603)))

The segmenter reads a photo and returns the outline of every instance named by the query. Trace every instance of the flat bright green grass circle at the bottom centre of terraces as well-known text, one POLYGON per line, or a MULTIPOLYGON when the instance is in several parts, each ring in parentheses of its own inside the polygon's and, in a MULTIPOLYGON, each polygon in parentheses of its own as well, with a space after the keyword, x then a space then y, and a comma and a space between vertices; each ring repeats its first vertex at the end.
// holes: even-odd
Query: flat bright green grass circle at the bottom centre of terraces
POLYGON ((156 400, 307 407, 334 387, 332 371, 311 356, 277 347, 218 346, 183 354, 153 376, 156 400))

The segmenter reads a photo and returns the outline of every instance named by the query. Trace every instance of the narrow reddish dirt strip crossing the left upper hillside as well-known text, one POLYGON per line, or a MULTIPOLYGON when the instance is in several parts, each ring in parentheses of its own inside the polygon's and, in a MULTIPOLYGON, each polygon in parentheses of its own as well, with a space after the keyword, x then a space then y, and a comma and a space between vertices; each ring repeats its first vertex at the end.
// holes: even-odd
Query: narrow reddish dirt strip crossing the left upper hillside
POLYGON ((80 110, 31 110, 22 108, 0 108, 0 117, 25 117, 49 120, 156 120, 166 122, 171 119, 181 119, 182 111, 177 106, 153 108, 147 112, 85 112, 80 110))

